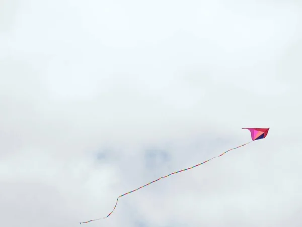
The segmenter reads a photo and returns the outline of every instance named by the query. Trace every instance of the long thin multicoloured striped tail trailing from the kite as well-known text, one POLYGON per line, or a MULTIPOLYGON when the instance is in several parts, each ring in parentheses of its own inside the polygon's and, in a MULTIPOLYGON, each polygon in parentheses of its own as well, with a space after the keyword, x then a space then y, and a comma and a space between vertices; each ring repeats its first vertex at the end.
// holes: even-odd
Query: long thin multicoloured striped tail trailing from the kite
POLYGON ((113 213, 113 211, 115 210, 116 205, 117 205, 117 202, 118 202, 118 199, 119 199, 120 197, 124 196, 124 195, 127 195, 127 194, 130 194, 130 193, 134 192, 134 191, 137 191, 138 189, 143 188, 143 187, 145 187, 145 186, 147 186, 147 185, 149 185, 149 184, 152 184, 152 183, 154 183, 154 182, 157 182, 157 181, 159 181, 159 180, 162 179, 162 178, 166 178, 166 177, 169 177, 169 176, 171 176, 171 175, 173 175, 173 174, 180 173, 180 172, 183 172, 183 171, 186 171, 186 170, 189 170, 189 169, 193 169, 194 167, 200 166, 200 165, 202 165, 202 164, 204 164, 204 163, 206 163, 206 162, 208 162, 208 161, 210 161, 210 160, 212 160, 212 159, 214 159, 214 158, 218 158, 218 157, 224 155, 225 153, 228 153, 229 151, 232 151, 232 150, 235 150, 235 149, 237 149, 237 148, 243 147, 243 146, 245 146, 245 145, 247 145, 247 144, 249 144, 249 143, 251 143, 251 142, 253 142, 253 141, 250 141, 250 142, 248 142, 248 143, 246 143, 246 144, 243 144, 243 145, 240 145, 240 146, 238 146, 238 147, 236 147, 236 148, 232 148, 232 149, 230 149, 230 150, 228 150, 228 151, 225 151, 225 152, 223 152, 221 155, 218 155, 218 156, 215 156, 215 157, 213 157, 213 158, 210 158, 209 160, 206 160, 206 161, 204 161, 204 162, 202 162, 202 163, 199 163, 199 164, 197 164, 197 165, 195 165, 195 166, 189 167, 189 168, 187 168, 187 169, 182 169, 182 170, 176 171, 176 172, 174 172, 174 173, 170 173, 170 174, 168 174, 168 175, 166 175, 166 176, 160 177, 160 178, 157 179, 157 180, 154 180, 154 181, 149 182, 149 183, 147 183, 147 184, 145 184, 145 185, 143 185, 143 186, 140 186, 139 188, 136 188, 136 189, 134 189, 134 190, 132 190, 132 191, 129 191, 129 192, 125 193, 125 194, 122 194, 122 195, 118 196, 118 198, 116 199, 116 203, 115 203, 115 206, 114 206, 113 210, 112 210, 106 217, 101 217, 101 218, 98 218, 98 219, 92 219, 92 220, 89 220, 89 221, 83 221, 83 222, 80 222, 80 224, 82 224, 82 223, 88 223, 88 222, 90 222, 90 221, 100 220, 100 219, 104 219, 104 218, 109 217, 109 216, 113 213))

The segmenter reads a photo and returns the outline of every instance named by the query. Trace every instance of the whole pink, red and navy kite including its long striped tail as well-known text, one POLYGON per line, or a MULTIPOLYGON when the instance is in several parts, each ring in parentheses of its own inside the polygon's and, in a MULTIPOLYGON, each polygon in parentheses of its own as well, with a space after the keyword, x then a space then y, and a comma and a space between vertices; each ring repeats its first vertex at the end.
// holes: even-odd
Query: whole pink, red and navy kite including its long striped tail
POLYGON ((124 195, 127 195, 127 194, 130 194, 130 193, 132 193, 132 192, 134 192, 134 191, 137 191, 137 190, 139 190, 139 189, 141 189, 141 188, 143 188, 143 187, 145 187, 145 186, 148 186, 148 185, 150 185, 150 184, 152 184, 152 183, 155 183, 155 182, 157 182, 157 181, 159 181, 159 180, 161 180, 161 179, 163 179, 163 178, 169 177, 169 176, 171 176, 171 175, 173 175, 173 174, 180 173, 180 172, 183 172, 183 171, 186 171, 186 170, 189 170, 189 169, 193 169, 193 168, 195 168, 195 167, 197 167, 197 166, 200 166, 200 165, 202 165, 202 164, 204 164, 204 163, 206 163, 206 162, 208 162, 208 161, 210 161, 210 160, 212 160, 212 159, 214 159, 214 158, 218 158, 218 157, 224 155, 225 153, 228 153, 229 151, 232 151, 232 150, 235 150, 235 149, 237 149, 237 148, 243 147, 243 146, 245 146, 245 145, 247 145, 247 144, 249 144, 249 143, 251 143, 251 142, 253 142, 253 141, 255 141, 255 140, 264 139, 264 138, 267 136, 267 133, 268 133, 268 130, 269 130, 269 128, 242 128, 242 129, 248 129, 248 130, 251 132, 252 141, 250 141, 250 142, 248 142, 248 143, 246 143, 246 144, 240 145, 240 146, 238 146, 238 147, 232 148, 232 149, 230 149, 230 150, 228 150, 228 151, 225 151, 225 152, 223 152, 221 155, 218 155, 218 156, 215 156, 215 157, 213 157, 213 158, 210 158, 210 159, 208 159, 208 160, 206 160, 206 161, 204 161, 204 162, 202 162, 202 163, 199 163, 199 164, 197 164, 197 165, 195 165, 195 166, 192 166, 192 167, 189 167, 189 168, 187 168, 187 169, 182 169, 182 170, 179 170, 179 171, 170 173, 170 174, 168 174, 168 175, 166 175, 166 176, 160 177, 160 178, 157 179, 157 180, 154 180, 154 181, 151 181, 151 182, 149 182, 149 183, 147 183, 147 184, 145 184, 145 185, 142 185, 142 186, 140 186, 139 188, 136 188, 136 189, 134 189, 134 190, 132 190, 132 191, 129 191, 129 192, 125 193, 125 194, 122 194, 122 195, 120 195, 120 196, 116 199, 116 203, 115 203, 115 206, 114 206, 113 210, 112 210, 106 217, 101 217, 101 218, 97 218, 97 219, 92 219, 92 220, 89 220, 89 221, 83 221, 83 222, 80 222, 80 224, 82 224, 82 223, 88 223, 88 222, 90 222, 90 221, 105 219, 105 218, 109 217, 109 216, 113 213, 113 211, 114 211, 115 208, 116 208, 118 199, 119 199, 120 197, 122 197, 122 196, 124 196, 124 195))

